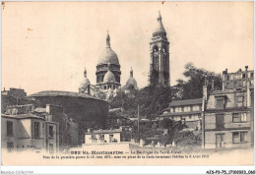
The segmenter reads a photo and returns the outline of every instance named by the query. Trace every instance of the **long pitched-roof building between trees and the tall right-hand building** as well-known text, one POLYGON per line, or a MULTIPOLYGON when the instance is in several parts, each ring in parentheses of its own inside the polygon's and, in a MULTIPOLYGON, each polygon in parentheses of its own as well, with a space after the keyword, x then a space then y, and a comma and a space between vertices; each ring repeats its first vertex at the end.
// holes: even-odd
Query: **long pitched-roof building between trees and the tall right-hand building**
POLYGON ((169 118, 182 121, 189 129, 201 130, 202 125, 202 98, 176 100, 169 103, 159 119, 169 118))

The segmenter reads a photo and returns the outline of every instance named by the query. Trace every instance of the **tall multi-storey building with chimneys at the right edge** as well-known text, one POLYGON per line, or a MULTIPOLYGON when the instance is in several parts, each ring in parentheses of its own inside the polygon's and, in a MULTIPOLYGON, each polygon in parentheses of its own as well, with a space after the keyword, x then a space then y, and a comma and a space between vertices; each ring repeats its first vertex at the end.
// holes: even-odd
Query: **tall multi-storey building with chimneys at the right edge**
POLYGON ((253 146, 253 71, 223 73, 223 90, 204 86, 203 148, 253 146))

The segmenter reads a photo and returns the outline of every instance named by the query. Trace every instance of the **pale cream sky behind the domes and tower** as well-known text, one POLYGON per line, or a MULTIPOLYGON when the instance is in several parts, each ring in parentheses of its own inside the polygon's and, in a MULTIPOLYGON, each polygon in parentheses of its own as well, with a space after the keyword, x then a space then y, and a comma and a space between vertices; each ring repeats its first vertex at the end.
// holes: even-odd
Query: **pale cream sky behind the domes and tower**
POLYGON ((253 2, 5 2, 2 5, 2 87, 78 91, 109 31, 121 85, 133 68, 148 86, 150 41, 159 11, 169 44, 170 85, 185 64, 216 73, 254 68, 253 2))

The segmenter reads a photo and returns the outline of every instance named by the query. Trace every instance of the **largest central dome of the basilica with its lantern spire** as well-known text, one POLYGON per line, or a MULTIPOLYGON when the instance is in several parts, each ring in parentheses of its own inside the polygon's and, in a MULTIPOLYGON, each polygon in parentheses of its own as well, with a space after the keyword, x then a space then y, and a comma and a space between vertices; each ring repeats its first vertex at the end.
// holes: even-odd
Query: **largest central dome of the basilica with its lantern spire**
POLYGON ((110 36, 107 32, 106 47, 100 53, 98 60, 97 60, 97 65, 103 65, 103 64, 108 64, 108 63, 114 64, 114 65, 119 65, 118 57, 117 57, 116 53, 110 47, 110 36))

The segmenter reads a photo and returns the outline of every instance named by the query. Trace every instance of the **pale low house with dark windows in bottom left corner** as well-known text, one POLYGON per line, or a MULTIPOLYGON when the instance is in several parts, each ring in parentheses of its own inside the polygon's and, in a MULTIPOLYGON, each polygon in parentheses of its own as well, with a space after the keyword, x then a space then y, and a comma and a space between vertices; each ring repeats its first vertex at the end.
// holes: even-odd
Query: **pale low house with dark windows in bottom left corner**
POLYGON ((58 123, 35 115, 33 105, 11 106, 1 115, 1 144, 7 152, 58 152, 58 123))

